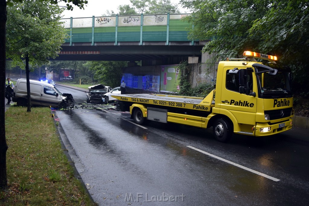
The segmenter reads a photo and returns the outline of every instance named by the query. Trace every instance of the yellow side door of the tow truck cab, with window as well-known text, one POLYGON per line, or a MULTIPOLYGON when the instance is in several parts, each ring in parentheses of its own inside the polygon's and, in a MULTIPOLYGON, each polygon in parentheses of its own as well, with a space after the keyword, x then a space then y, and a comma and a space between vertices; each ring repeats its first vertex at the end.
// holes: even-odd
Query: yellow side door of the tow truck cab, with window
POLYGON ((256 79, 253 78, 253 69, 227 68, 225 77, 222 77, 221 109, 232 113, 240 124, 256 124, 257 93, 256 79), (240 69, 243 69, 240 72, 240 69), (240 77, 243 75, 243 77, 240 77), (241 82, 241 79, 243 82, 241 82), (241 88, 241 91, 239 90, 241 88), (243 90, 245 93, 241 94, 243 90), (251 93, 251 94, 250 94, 251 93))

